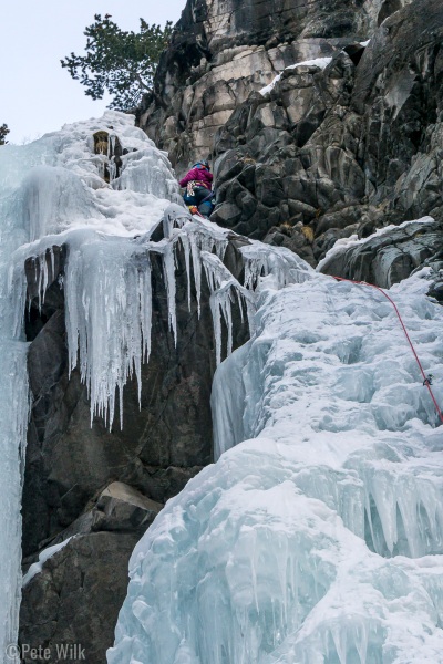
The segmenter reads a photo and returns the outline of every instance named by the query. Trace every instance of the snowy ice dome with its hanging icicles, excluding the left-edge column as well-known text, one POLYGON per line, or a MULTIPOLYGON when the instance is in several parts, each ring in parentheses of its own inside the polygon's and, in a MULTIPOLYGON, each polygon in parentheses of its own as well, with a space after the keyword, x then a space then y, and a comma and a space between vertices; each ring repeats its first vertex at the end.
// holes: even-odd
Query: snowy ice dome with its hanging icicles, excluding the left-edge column
POLYGON ((189 298, 193 261, 199 299, 200 252, 214 250, 222 258, 227 231, 192 220, 165 153, 133 126, 132 116, 107 112, 100 121, 68 125, 33 145, 35 160, 24 174, 18 172, 12 206, 16 224, 24 231, 10 270, 14 331, 20 334, 25 309, 25 259, 35 262, 42 302, 53 280, 53 247, 65 245, 70 369, 79 366, 89 386, 91 417, 102 415, 111 426, 119 403, 122 412, 126 381, 135 374, 141 384, 141 365, 150 356, 151 252, 162 255, 175 335, 176 251, 185 252, 189 298), (99 129, 109 131, 111 139, 119 136, 128 151, 120 177, 111 184, 102 177, 106 157, 93 153, 99 129), (150 231, 162 217, 166 239, 151 242, 150 231))

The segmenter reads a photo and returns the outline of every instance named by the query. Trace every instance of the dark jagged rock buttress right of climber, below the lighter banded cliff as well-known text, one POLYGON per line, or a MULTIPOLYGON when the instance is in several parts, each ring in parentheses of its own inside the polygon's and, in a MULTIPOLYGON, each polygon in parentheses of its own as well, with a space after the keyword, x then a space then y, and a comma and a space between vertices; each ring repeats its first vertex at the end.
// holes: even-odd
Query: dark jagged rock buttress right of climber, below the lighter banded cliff
POLYGON ((349 44, 251 94, 215 139, 214 220, 316 264, 339 238, 441 219, 442 35, 441 3, 415 0, 364 52, 349 44))

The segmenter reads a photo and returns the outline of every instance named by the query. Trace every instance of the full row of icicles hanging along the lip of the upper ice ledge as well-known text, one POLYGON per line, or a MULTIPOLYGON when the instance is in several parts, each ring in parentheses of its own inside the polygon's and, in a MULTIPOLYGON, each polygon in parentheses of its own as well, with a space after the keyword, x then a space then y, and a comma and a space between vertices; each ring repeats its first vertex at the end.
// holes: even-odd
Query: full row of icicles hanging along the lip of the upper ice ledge
POLYGON ((65 273, 60 287, 64 288, 65 294, 70 371, 79 367, 81 378, 89 387, 91 419, 99 415, 111 427, 117 401, 123 426, 123 387, 135 374, 141 396, 142 364, 148 362, 151 353, 152 255, 162 256, 169 328, 175 342, 177 251, 184 252, 189 310, 194 279, 198 314, 204 270, 210 291, 217 364, 223 355, 223 321, 227 329, 226 355, 233 349, 233 304, 238 303, 241 319, 246 311, 253 331, 260 281, 272 279, 282 287, 306 278, 308 268, 293 253, 250 242, 241 247, 245 282, 239 283, 223 262, 228 234, 215 224, 190 217, 183 207, 172 204, 163 217, 164 239, 161 241, 153 241, 152 232, 134 239, 91 229, 48 236, 31 250, 23 248, 11 271, 10 288, 17 299, 16 326, 21 328, 27 305, 24 260, 32 258, 34 261, 41 309, 48 286, 54 280, 53 247, 66 245, 65 273))

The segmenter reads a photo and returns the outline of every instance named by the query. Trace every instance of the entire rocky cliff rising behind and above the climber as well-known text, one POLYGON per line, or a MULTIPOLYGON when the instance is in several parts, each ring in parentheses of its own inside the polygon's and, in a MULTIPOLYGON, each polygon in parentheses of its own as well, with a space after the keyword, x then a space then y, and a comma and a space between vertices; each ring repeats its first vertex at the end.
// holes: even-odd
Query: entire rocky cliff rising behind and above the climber
POLYGON ((440 218, 441 37, 434 0, 278 2, 272 21, 189 1, 138 120, 178 172, 213 155, 215 221, 315 266, 337 239, 440 218))

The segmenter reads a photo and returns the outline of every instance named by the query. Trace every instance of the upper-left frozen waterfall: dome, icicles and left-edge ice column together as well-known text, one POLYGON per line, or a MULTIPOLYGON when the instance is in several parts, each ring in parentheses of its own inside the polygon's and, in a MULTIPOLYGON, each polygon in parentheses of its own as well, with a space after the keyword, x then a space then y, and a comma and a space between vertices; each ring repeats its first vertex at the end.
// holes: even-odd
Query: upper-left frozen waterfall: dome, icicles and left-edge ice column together
MULTIPOLYGON (((71 371, 79 369, 91 397, 91 418, 109 426, 120 411, 126 381, 141 375, 151 347, 151 261, 161 257, 169 325, 176 331, 175 266, 183 252, 192 290, 210 282, 219 329, 233 305, 254 314, 249 291, 222 259, 227 230, 193 218, 183 206, 165 153, 134 127, 131 115, 107 112, 101 120, 66 125, 24 147, 0 151, 0 322, 2 478, 0 525, 0 662, 18 662, 20 602, 20 501, 29 414, 24 312, 30 305, 24 266, 35 278, 38 305, 55 278, 55 256, 65 257, 58 277, 64 290, 71 371), (97 152, 95 137, 102 141, 97 152), (103 136, 107 149, 103 149, 103 136), (120 164, 113 149, 119 143, 120 164), (151 235, 163 226, 163 237, 151 235), (27 262, 28 261, 28 262, 27 262), (192 279, 194 279, 192 289, 192 279), (12 416, 11 416, 12 415, 12 416), (12 644, 12 650, 6 646, 12 644)), ((226 351, 224 351, 226 352, 226 351)))

